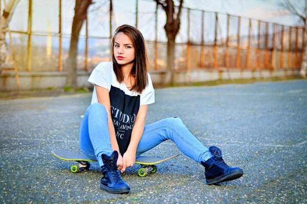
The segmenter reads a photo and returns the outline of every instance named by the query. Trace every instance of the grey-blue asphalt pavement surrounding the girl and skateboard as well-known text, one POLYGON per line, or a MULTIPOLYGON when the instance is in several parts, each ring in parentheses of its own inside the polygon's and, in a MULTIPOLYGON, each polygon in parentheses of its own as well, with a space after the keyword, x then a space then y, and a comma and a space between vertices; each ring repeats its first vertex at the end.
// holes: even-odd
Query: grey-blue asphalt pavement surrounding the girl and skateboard
POLYGON ((222 149, 244 175, 206 185, 204 168, 171 141, 146 152, 165 156, 146 177, 122 178, 129 194, 100 190, 100 167, 71 173, 53 149, 81 152, 79 125, 91 93, 0 100, 1 203, 306 203, 307 80, 156 89, 146 124, 180 117, 205 146, 222 149))

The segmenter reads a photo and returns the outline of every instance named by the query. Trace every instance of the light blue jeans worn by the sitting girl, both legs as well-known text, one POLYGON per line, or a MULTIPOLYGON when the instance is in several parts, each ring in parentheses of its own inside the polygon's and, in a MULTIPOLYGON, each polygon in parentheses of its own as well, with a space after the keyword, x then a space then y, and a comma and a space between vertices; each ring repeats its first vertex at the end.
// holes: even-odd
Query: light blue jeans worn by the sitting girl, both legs
MULTIPOLYGON (((140 155, 166 140, 172 140, 187 156, 198 163, 213 155, 177 117, 166 118, 144 127, 136 155, 140 155)), ((100 103, 90 105, 80 127, 80 147, 83 153, 103 166, 101 154, 111 155, 112 147, 107 128, 107 112, 100 103)))

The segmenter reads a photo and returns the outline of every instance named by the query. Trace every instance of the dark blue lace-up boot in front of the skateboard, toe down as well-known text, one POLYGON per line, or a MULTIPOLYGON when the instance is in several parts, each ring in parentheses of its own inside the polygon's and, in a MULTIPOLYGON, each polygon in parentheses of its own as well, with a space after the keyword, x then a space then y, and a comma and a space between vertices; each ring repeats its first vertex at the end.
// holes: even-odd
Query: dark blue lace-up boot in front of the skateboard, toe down
POLYGON ((114 151, 111 156, 102 154, 101 158, 104 166, 101 167, 103 177, 100 180, 100 188, 109 193, 129 193, 130 187, 117 170, 118 152, 114 151))

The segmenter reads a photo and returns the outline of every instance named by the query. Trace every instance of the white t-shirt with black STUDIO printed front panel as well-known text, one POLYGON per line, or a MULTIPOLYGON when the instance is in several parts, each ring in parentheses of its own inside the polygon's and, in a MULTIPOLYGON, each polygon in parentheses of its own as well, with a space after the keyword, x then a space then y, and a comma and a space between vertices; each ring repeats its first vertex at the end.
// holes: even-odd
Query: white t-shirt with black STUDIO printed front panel
MULTIPOLYGON (((89 82, 107 88, 111 102, 111 114, 120 153, 125 153, 130 143, 131 131, 134 126, 140 105, 155 103, 155 89, 148 75, 148 85, 140 94, 129 90, 124 82, 119 83, 113 71, 113 62, 101 62, 93 70, 89 82)), ((98 103, 94 86, 92 102, 98 103)))

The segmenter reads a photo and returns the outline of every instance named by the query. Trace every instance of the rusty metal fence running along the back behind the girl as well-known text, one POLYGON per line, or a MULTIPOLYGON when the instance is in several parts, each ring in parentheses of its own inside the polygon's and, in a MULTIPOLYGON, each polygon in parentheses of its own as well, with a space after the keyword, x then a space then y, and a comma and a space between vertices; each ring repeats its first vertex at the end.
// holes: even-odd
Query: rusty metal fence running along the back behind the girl
MULTIPOLYGON (((148 14, 139 11, 140 2, 153 3, 153 1, 131 1, 131 4, 135 4, 135 11, 133 12, 133 15, 135 15, 134 26, 144 33, 146 31, 142 31, 142 25, 146 25, 146 19, 142 17, 148 14)), ((107 3, 111 3, 111 1, 107 3)), ((152 3, 150 4, 153 5, 152 3)), ((33 71, 33 67, 35 67, 36 71, 62 72, 65 70, 65 60, 68 56, 67 53, 63 52, 63 40, 70 38, 69 35, 62 33, 62 0, 58 0, 58 32, 33 32, 32 7, 32 0, 28 0, 27 31, 11 31, 14 35, 20 35, 20 39, 25 36, 27 37, 26 45, 25 43, 17 44, 15 42, 16 47, 20 48, 16 49, 17 56, 19 54, 19 70, 31 72, 33 71), (52 57, 49 56, 49 59, 43 56, 43 52, 39 52, 39 43, 33 44, 33 39, 39 37, 58 39, 57 52, 53 49, 56 54, 53 54, 52 57), (37 51, 33 50, 34 47, 37 51), (20 52, 23 53, 20 54, 20 52), (57 65, 55 65, 55 60, 57 61, 57 65), (25 61, 26 63, 24 63, 25 61), (53 68, 42 68, 40 64, 33 66, 33 61, 39 62, 40 64, 49 63, 49 67, 53 68), (26 64, 26 67, 24 64, 26 64), (54 69, 54 67, 57 68, 54 69)), ((105 8, 107 7, 109 7, 108 4, 105 5, 105 8)), ((155 37, 153 40, 146 39, 145 37, 145 40, 149 48, 147 50, 150 50, 148 57, 152 69, 164 70, 166 69, 166 38, 158 33, 159 28, 160 33, 162 32, 161 25, 165 24, 165 21, 159 18, 159 16, 163 16, 164 11, 157 5, 154 9, 155 11, 149 15, 151 15, 153 22, 152 26, 155 30, 155 37), (160 25, 159 28, 158 25, 160 25)), ((303 58, 303 48, 306 43, 306 35, 302 27, 288 27, 251 18, 189 8, 184 8, 182 13, 181 29, 176 40, 177 57, 175 64, 177 70, 187 71, 198 68, 239 68, 254 70, 300 66, 303 58), (195 25, 196 21, 200 22, 199 25, 195 25)), ((79 38, 80 41, 84 42, 84 51, 82 51, 84 53, 79 53, 79 70, 89 71, 98 61, 106 59, 105 57, 95 59, 95 54, 90 56, 89 53, 92 51, 90 46, 92 40, 100 40, 106 45, 110 44, 112 33, 115 29, 114 24, 116 19, 114 17, 117 14, 112 9, 108 10, 107 14, 108 19, 104 21, 108 21, 109 30, 106 32, 108 36, 103 37, 89 35, 89 25, 92 21, 86 18, 84 23, 85 35, 81 35, 79 38)), ((120 22, 122 24, 126 23, 125 19, 119 19, 116 23, 121 24, 120 22)), ((107 52, 107 49, 105 51, 107 52)), ((108 57, 107 59, 110 58, 108 57)))

